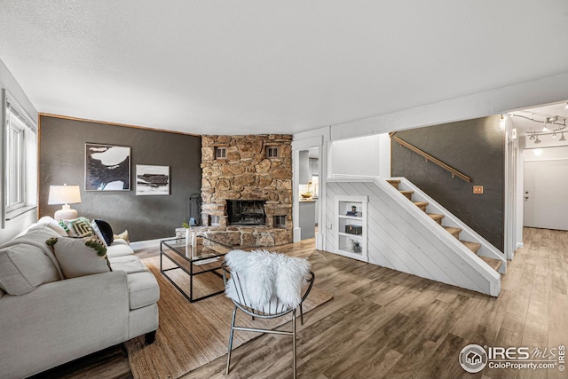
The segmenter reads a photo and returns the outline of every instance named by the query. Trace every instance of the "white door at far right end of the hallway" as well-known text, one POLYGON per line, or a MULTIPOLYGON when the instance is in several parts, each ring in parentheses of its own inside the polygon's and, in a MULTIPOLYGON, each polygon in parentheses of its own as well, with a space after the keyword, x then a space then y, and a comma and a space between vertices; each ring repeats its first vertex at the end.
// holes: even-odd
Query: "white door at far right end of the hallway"
POLYGON ((525 162, 524 225, 568 230, 568 160, 525 162))

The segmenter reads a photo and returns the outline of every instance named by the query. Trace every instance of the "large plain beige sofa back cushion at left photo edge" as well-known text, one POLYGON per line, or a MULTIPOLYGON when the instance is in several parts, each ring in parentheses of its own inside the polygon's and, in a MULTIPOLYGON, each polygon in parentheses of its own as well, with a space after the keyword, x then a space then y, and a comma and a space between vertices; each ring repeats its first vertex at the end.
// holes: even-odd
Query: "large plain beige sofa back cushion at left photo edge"
POLYGON ((59 280, 59 272, 43 249, 19 243, 0 249, 0 288, 24 295, 37 286, 59 280))

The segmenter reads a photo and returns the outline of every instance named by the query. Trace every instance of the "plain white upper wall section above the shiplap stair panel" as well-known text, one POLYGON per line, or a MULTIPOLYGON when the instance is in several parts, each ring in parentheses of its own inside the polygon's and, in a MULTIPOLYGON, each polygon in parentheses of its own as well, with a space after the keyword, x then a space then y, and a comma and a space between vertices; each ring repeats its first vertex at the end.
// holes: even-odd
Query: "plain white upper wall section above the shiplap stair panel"
POLYGON ((390 177, 390 138, 386 133, 334 141, 331 176, 390 177))

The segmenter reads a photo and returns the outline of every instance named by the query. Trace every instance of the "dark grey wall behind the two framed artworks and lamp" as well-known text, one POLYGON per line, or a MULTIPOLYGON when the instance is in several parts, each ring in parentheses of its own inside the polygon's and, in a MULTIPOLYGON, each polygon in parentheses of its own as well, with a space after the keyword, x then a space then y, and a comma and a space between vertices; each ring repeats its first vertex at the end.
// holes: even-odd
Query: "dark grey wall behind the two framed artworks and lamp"
POLYGON ((48 205, 50 185, 79 185, 81 203, 71 208, 92 220, 106 220, 114 233, 128 229, 130 241, 175 235, 188 219, 189 196, 201 193, 201 136, 41 117, 39 216, 48 205), (130 146, 130 191, 85 191, 85 143, 130 146), (170 166, 170 195, 136 195, 136 165, 170 166))

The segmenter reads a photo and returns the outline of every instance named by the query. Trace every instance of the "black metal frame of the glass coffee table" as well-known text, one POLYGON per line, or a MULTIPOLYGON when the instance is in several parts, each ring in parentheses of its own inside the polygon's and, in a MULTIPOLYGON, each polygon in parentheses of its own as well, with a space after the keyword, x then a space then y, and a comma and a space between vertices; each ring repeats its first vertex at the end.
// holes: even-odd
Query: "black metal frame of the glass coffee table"
MULTIPOLYGON (((216 296, 219 294, 222 294, 223 292, 225 292, 225 288, 221 289, 220 291, 214 292, 212 294, 208 294, 205 296, 200 296, 200 297, 196 297, 193 298, 193 276, 195 275, 200 275, 201 273, 207 273, 207 272, 212 272, 214 274, 216 274, 217 276, 219 276, 219 279, 222 280, 223 275, 219 272, 217 272, 217 270, 223 270, 221 264, 223 263, 223 259, 218 259, 219 257, 225 257, 225 254, 228 253, 229 251, 231 251, 232 248, 225 246, 222 243, 219 243, 217 241, 213 241, 213 240, 209 240, 206 237, 202 237, 202 236, 198 236, 197 239, 203 239, 208 241, 208 243, 211 243, 213 245, 218 245, 221 248, 225 248, 226 251, 223 253, 217 252, 217 253, 212 253, 212 254, 208 254, 206 256, 200 256, 198 255, 197 257, 187 257, 185 255, 185 248, 187 245, 185 245, 185 238, 171 238, 168 240, 162 240, 160 241, 160 272, 162 272, 162 275, 167 279, 170 280, 170 283, 174 285, 175 288, 177 288, 177 290, 183 295, 185 296, 185 298, 187 300, 189 300, 190 303, 202 300, 202 299, 206 299, 208 297, 211 296, 216 296), (174 243, 175 242, 175 243, 174 243), (186 262, 189 263, 189 270, 187 270, 184 266, 179 265, 179 263, 177 263, 172 257, 170 257, 167 253, 164 252, 164 246, 167 248, 166 250, 170 250, 173 251, 174 253, 177 254, 177 256, 182 257, 183 259, 185 259, 186 262), (183 248, 183 251, 181 250, 183 248), (162 266, 162 259, 163 257, 167 257, 168 259, 170 259, 170 261, 176 265, 176 267, 171 267, 171 268, 166 268, 164 269, 162 266), (217 258, 217 260, 219 260, 218 265, 216 265, 215 267, 212 268, 208 268, 205 270, 200 270, 200 271, 195 271, 193 270, 193 265, 200 265, 203 264, 202 261, 206 261, 208 259, 212 259, 212 258, 217 258), (189 295, 187 295, 187 293, 185 292, 185 290, 181 287, 179 287, 176 283, 176 281, 170 277, 170 275, 168 274, 169 271, 171 270, 178 270, 181 269, 183 270, 185 273, 187 273, 189 275, 189 295)), ((198 244, 196 246, 203 246, 202 244, 198 244)), ((197 248, 191 248, 190 249, 197 249, 197 248)), ((206 265, 214 265, 214 262, 208 263, 206 265)))

